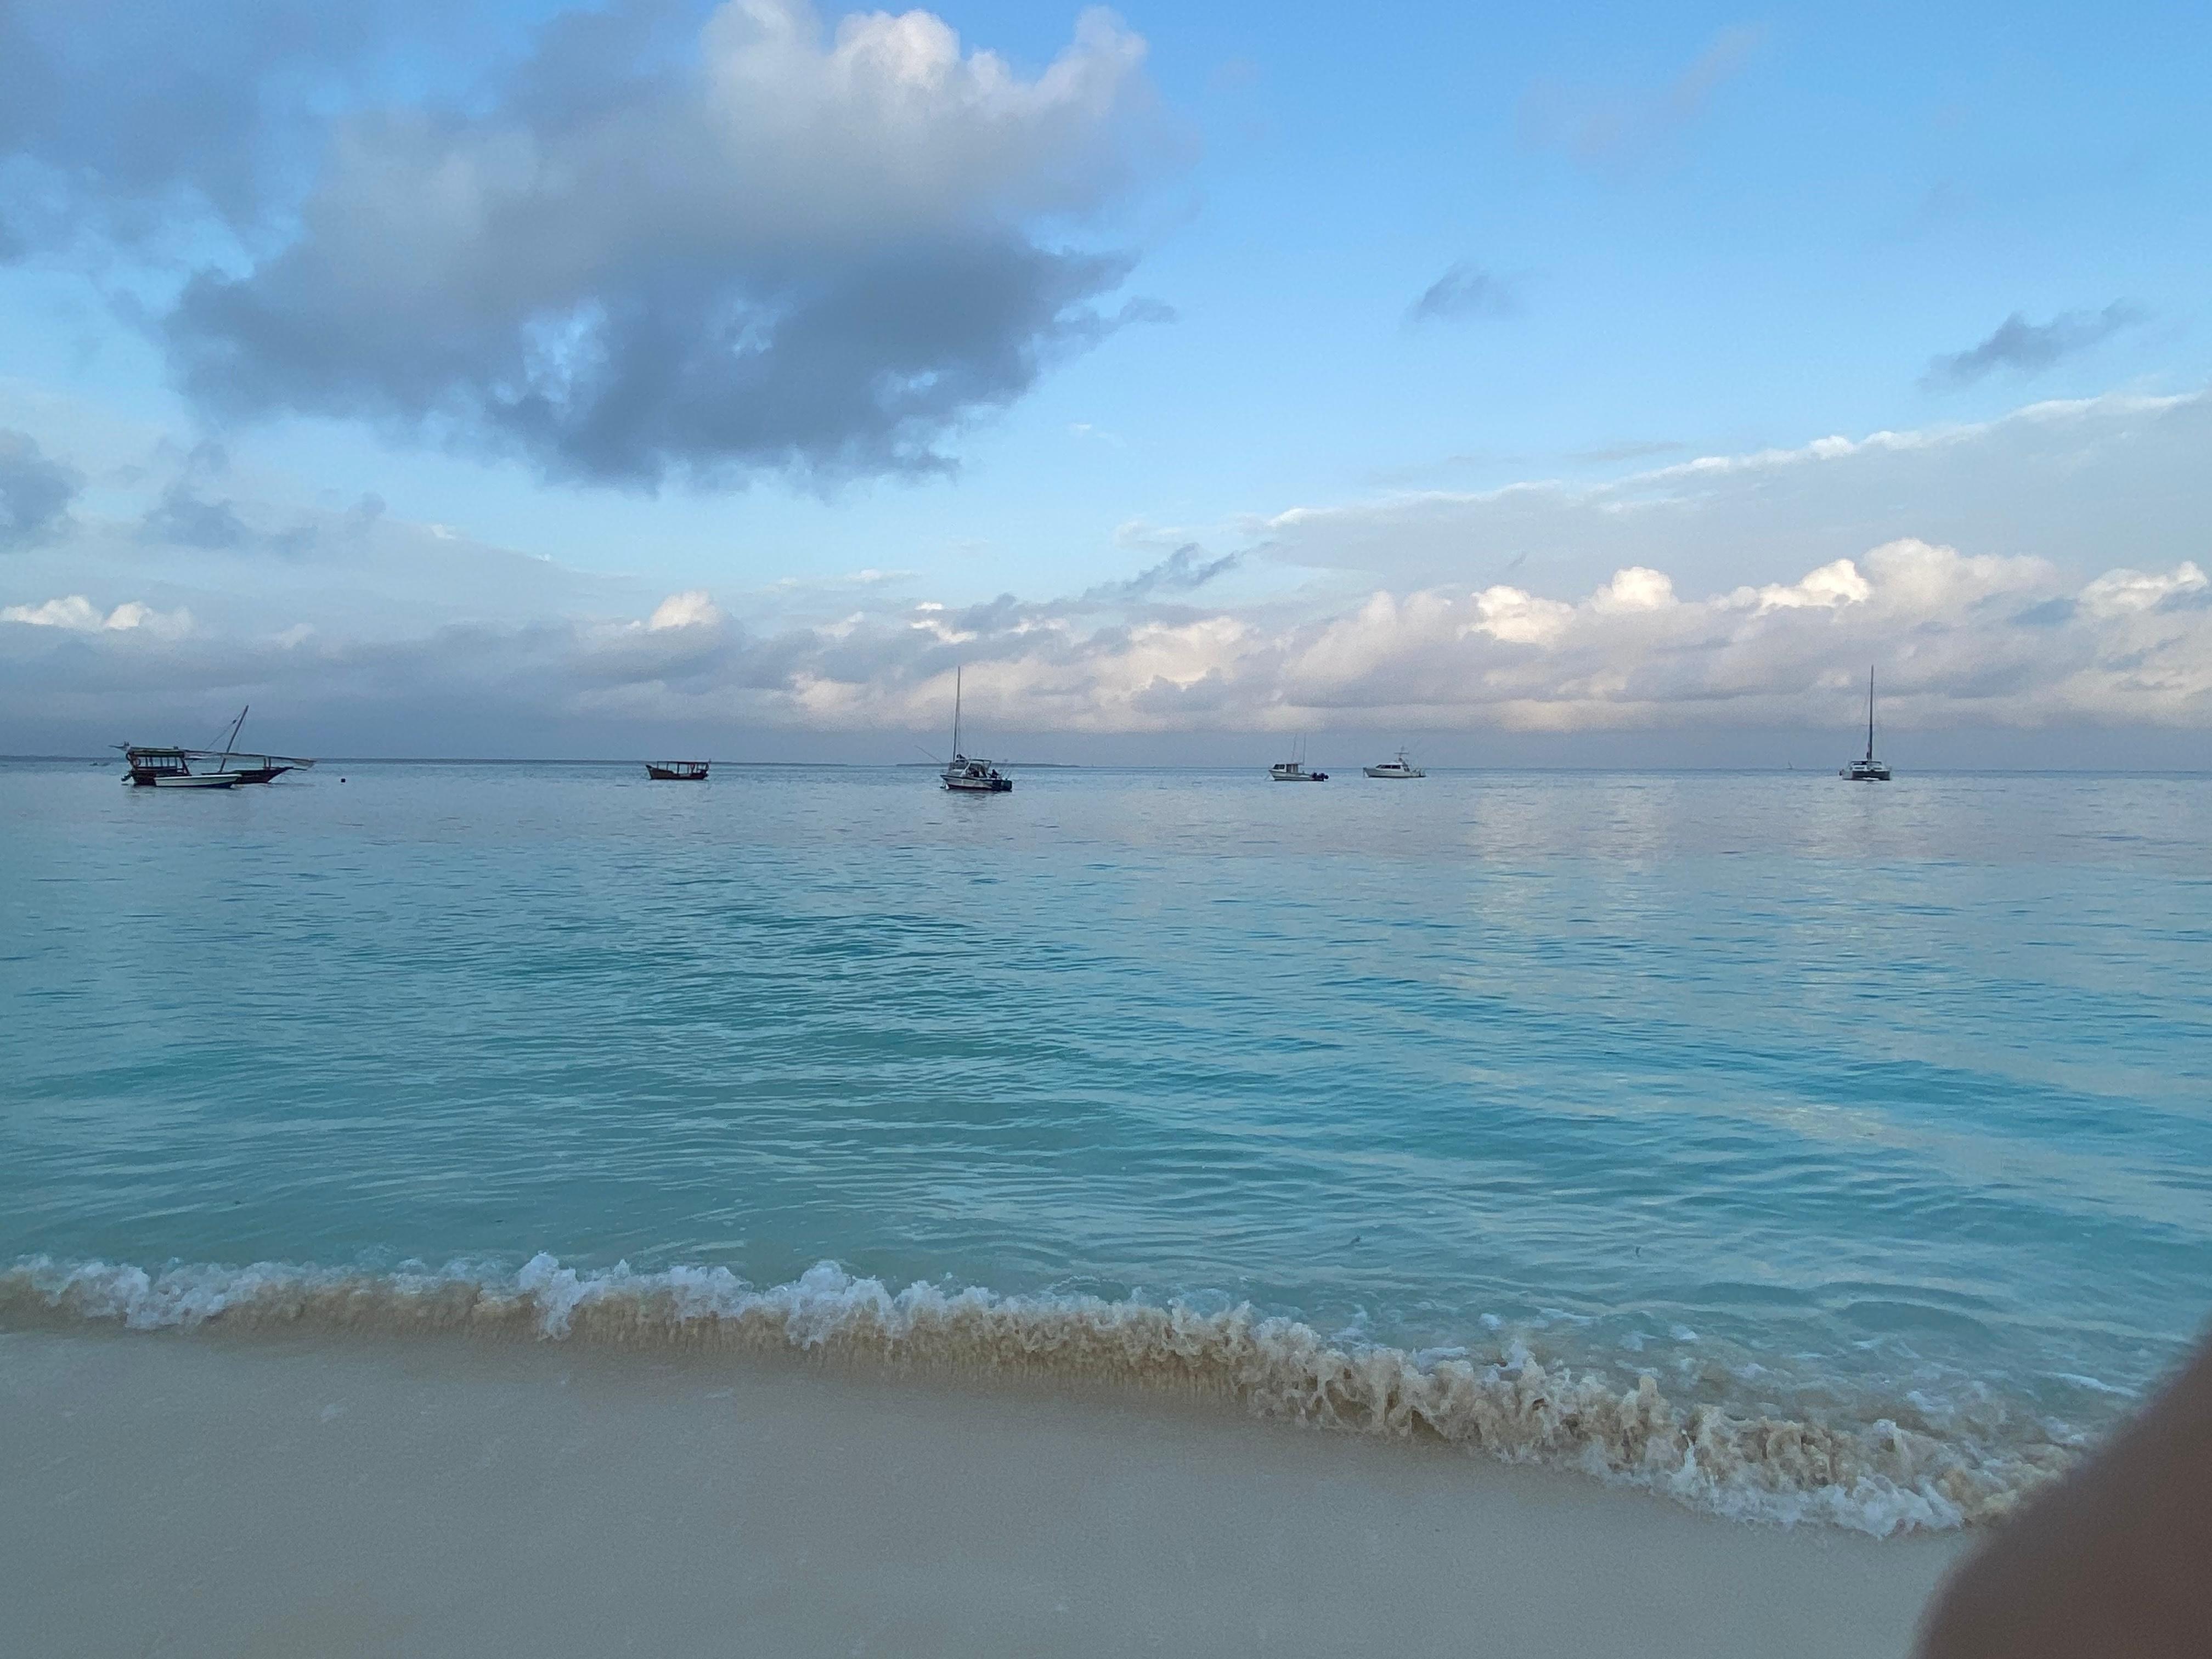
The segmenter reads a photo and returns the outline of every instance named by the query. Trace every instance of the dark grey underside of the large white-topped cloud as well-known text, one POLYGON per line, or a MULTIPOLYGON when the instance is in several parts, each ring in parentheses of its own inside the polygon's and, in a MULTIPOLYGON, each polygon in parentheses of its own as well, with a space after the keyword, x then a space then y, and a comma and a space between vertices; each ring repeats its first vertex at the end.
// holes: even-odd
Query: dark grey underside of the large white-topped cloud
POLYGON ((195 279, 168 323, 184 385, 232 416, 358 416, 518 453, 549 476, 659 484, 949 471, 942 442, 1124 316, 1130 261, 978 234, 807 272, 633 270, 553 323, 451 292, 347 294, 330 250, 195 279), (619 285, 617 285, 619 283, 619 285))

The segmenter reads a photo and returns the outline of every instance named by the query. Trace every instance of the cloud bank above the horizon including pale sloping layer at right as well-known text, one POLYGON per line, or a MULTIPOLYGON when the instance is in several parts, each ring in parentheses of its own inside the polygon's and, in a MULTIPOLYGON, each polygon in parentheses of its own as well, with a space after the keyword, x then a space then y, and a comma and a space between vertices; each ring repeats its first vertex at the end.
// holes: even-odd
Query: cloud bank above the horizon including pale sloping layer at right
POLYGON ((394 732, 929 732, 960 664, 975 717, 1026 732, 1836 728, 1869 664, 1893 726, 2212 732, 2212 502, 2174 482, 2208 411, 2033 405, 1601 484, 1133 524, 1126 580, 980 602, 900 571, 646 591, 374 498, 285 513, 197 447, 0 562, 4 741, 239 701, 394 732), (2124 544, 2044 513, 2137 480, 2168 493, 2137 491, 2124 544), (1863 498, 1880 515, 1854 524, 1863 498), (1971 533, 1867 533, 1944 511, 1971 533))

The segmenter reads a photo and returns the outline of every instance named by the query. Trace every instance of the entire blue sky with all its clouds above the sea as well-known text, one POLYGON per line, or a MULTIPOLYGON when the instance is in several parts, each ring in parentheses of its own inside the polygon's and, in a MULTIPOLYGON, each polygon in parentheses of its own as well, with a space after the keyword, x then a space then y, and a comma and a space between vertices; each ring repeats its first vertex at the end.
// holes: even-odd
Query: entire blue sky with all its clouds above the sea
POLYGON ((2208 62, 0 0, 0 752, 2212 765, 2208 62))

